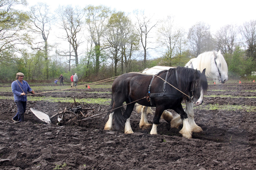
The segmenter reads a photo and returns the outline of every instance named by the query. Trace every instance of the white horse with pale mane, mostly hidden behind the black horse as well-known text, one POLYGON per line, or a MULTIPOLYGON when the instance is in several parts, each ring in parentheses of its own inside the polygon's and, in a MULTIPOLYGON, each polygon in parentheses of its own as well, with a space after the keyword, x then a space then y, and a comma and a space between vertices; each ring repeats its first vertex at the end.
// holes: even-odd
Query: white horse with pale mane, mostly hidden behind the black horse
MULTIPOLYGON (((216 51, 210 51, 200 54, 197 58, 191 59, 185 66, 189 68, 198 69, 202 72, 204 68, 206 68, 206 77, 218 79, 219 82, 225 83, 228 80, 228 66, 227 63, 219 51, 218 53, 216 51)), ((168 70, 173 67, 168 66, 154 66, 152 68, 146 69, 143 71, 145 74, 156 74, 162 70, 168 70)), ((202 101, 203 99, 203 92, 201 90, 201 96, 200 99, 202 101)), ((192 132, 201 132, 203 131, 201 127, 196 125, 194 121, 194 110, 193 106, 194 104, 192 102, 186 102, 186 113, 188 114, 188 122, 190 124, 190 128, 192 129, 192 132)), ((201 103, 195 103, 195 105, 200 105, 201 103)), ((150 107, 146 106, 137 106, 136 107, 138 113, 141 111, 141 119, 140 119, 140 128, 146 129, 151 126, 150 123, 148 123, 146 114, 153 114, 153 110, 150 107)), ((176 116, 173 118, 172 113, 168 111, 164 111, 161 116, 162 119, 166 120, 168 123, 171 123, 171 127, 178 128, 180 124, 182 123, 182 120, 180 116, 176 116)), ((181 133, 181 132, 180 132, 181 133)), ((192 137, 192 136, 191 136, 192 137)))

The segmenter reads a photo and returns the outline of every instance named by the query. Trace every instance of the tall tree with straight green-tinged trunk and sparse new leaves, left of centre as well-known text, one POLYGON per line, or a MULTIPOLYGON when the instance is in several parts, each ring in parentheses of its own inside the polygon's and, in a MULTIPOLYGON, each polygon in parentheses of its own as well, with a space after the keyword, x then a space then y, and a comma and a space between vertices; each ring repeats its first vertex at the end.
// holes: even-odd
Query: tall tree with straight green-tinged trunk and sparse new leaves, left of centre
POLYGON ((88 31, 90 37, 94 42, 94 53, 95 53, 95 73, 98 73, 100 68, 100 57, 101 57, 101 38, 104 32, 108 29, 107 22, 108 18, 112 14, 110 8, 106 6, 92 6, 88 5, 84 8, 86 15, 86 23, 88 25, 88 31))

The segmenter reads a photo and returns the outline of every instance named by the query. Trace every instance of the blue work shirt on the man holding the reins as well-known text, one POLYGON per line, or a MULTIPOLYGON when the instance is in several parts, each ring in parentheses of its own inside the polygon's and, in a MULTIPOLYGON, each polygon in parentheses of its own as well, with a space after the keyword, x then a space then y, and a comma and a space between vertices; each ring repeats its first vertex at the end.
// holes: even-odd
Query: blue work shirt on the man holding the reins
POLYGON ((28 92, 31 93, 31 91, 32 91, 32 89, 28 85, 28 82, 26 82, 25 80, 22 80, 22 83, 19 82, 18 80, 12 82, 12 92, 13 92, 13 96, 14 96, 14 102, 26 102, 27 95, 21 96, 21 94, 23 92, 28 94, 28 92))

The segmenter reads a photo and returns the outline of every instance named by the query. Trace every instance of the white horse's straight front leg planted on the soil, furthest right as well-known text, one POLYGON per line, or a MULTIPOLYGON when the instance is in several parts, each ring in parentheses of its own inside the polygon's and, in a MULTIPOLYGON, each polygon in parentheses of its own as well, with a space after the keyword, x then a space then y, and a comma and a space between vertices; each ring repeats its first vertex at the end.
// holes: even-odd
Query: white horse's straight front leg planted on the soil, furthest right
POLYGON ((194 110, 193 110, 193 103, 192 102, 188 102, 186 100, 186 113, 188 114, 188 123, 191 126, 191 129, 193 132, 202 132, 202 128, 198 125, 196 125, 195 121, 194 121, 194 110))

